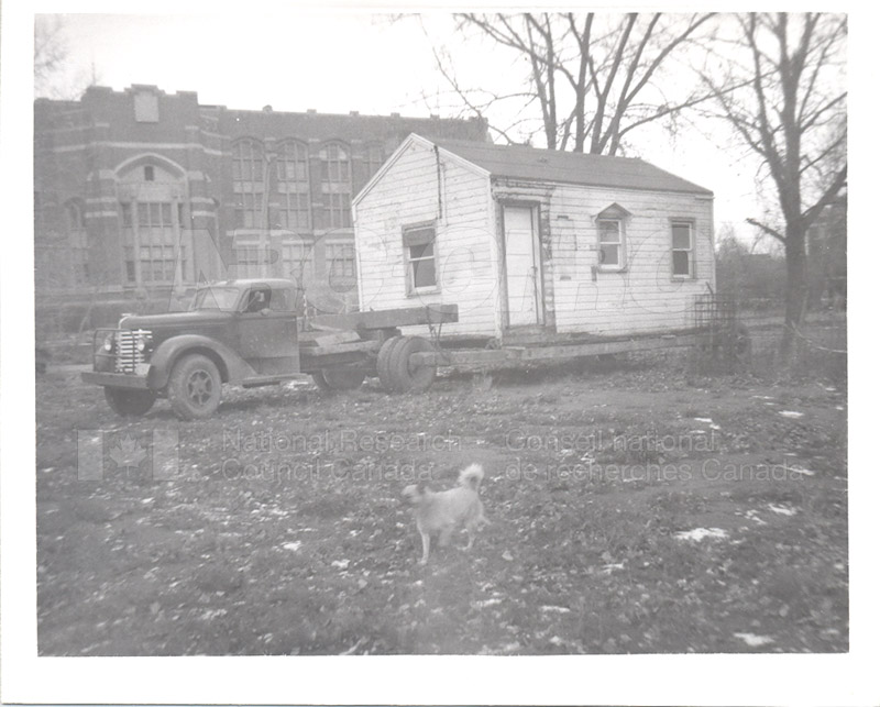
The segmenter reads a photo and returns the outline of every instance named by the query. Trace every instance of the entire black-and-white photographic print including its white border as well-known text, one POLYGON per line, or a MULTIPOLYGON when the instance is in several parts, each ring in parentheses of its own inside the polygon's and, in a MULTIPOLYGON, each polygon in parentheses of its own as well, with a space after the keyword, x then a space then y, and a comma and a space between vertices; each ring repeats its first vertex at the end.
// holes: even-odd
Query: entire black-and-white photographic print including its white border
POLYGON ((3 8, 34 665, 858 672, 856 15, 78 4, 3 8))

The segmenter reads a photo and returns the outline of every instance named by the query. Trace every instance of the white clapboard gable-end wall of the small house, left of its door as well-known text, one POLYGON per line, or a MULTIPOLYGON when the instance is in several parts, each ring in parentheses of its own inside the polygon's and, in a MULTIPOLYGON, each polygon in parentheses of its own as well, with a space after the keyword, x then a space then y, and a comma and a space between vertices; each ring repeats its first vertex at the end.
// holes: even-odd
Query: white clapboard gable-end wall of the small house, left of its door
POLYGON ((443 324, 443 334, 495 335, 497 255, 488 178, 452 159, 441 159, 441 168, 438 192, 437 155, 414 143, 358 203, 361 309, 455 303, 459 322, 443 324), (408 295, 403 230, 429 221, 437 228, 439 290, 408 295))

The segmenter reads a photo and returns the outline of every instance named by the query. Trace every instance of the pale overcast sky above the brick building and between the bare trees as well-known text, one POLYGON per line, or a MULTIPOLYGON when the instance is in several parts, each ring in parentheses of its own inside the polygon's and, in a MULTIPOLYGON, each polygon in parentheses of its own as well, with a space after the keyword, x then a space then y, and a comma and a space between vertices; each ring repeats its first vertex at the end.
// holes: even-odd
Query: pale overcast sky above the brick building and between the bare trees
MULTIPOLYGON (((42 15, 47 16, 47 15, 42 15)), ((66 14, 69 60, 55 88, 72 91, 94 75, 122 90, 151 84, 166 92, 196 91, 201 103, 258 110, 449 115, 448 86, 432 48, 446 48, 472 87, 516 88, 515 57, 488 42, 463 42, 450 14, 393 21, 356 11, 285 15, 66 14)), ((42 20, 42 18, 41 18, 42 20)), ((688 131, 674 143, 659 130, 635 134, 640 156, 716 195, 716 225, 733 223, 744 237, 758 216, 754 162, 741 150, 688 131)))

